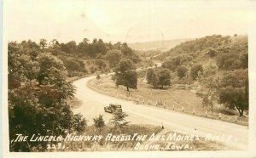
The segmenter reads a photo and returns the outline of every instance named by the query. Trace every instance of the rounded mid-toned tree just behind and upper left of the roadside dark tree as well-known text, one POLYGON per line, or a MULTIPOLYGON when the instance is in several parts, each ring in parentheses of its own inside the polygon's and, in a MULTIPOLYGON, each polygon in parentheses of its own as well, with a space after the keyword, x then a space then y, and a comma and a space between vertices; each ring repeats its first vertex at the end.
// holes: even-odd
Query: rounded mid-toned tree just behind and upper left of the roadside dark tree
POLYGON ((106 55, 106 59, 108 60, 109 66, 111 68, 117 66, 121 58, 122 58, 122 54, 117 49, 108 51, 106 55))

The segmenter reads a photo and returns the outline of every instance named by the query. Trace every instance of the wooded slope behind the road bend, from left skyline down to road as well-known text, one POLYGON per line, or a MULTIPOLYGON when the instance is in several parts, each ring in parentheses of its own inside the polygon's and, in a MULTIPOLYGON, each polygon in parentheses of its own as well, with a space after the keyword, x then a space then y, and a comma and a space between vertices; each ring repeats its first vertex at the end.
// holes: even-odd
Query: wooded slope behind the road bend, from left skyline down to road
POLYGON ((37 51, 49 52, 61 59, 67 68, 68 76, 83 76, 84 74, 106 73, 119 64, 120 59, 131 59, 138 64, 142 59, 126 42, 103 42, 102 39, 84 38, 82 42, 58 42, 56 39, 48 42, 41 39, 37 44, 31 40, 21 42, 22 46, 35 48, 37 51), (85 62, 89 61, 90 62, 85 62))

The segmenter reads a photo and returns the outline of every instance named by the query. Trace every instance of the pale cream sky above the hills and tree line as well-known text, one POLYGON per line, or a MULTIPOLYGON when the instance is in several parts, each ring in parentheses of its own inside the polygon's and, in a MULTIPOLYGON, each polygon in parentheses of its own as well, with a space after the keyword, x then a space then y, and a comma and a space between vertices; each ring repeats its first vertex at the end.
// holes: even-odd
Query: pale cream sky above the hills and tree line
POLYGON ((3 3, 9 41, 147 42, 247 34, 251 1, 8 0, 3 3))

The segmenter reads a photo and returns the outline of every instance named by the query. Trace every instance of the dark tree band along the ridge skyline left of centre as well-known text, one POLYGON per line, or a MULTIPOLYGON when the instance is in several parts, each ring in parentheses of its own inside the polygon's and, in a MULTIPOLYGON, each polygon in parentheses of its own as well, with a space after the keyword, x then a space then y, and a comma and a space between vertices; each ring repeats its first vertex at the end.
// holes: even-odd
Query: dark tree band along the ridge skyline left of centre
MULTIPOLYGON (((45 44, 44 48, 47 46, 47 41, 42 39, 45 44)), ((40 45, 41 44, 40 41, 40 45)), ((41 48, 43 48, 43 46, 41 48)), ((48 47, 54 54, 66 53, 73 56, 83 57, 84 59, 105 59, 108 52, 111 50, 118 51, 124 58, 131 59, 134 63, 139 62, 141 59, 134 51, 128 47, 126 42, 116 42, 112 44, 111 42, 103 42, 102 39, 93 39, 90 42, 87 38, 84 38, 82 42, 78 44, 74 41, 71 42, 58 42, 53 40, 50 42, 48 47)))

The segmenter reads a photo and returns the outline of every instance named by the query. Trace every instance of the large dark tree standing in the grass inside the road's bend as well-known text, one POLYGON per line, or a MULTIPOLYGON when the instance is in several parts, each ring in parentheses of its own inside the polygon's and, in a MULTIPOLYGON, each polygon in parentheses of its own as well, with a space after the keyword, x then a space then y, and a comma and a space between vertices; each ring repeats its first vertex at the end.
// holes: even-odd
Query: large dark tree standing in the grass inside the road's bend
POLYGON ((115 68, 116 86, 123 85, 129 91, 129 88, 137 88, 137 72, 135 66, 132 64, 131 59, 123 59, 119 62, 119 65, 115 68))

